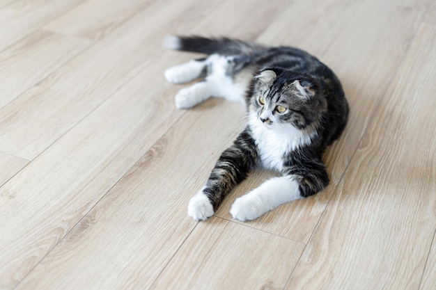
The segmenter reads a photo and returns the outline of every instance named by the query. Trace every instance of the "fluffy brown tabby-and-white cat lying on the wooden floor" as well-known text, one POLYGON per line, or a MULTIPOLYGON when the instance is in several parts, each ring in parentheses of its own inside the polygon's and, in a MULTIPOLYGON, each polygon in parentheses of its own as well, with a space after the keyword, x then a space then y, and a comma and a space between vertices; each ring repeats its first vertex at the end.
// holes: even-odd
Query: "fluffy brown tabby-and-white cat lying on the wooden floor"
POLYGON ((237 198, 230 211, 235 219, 254 220, 329 184, 322 154, 341 135, 349 108, 341 82, 327 65, 297 48, 230 38, 170 35, 165 45, 207 55, 164 72, 171 83, 200 79, 176 94, 178 108, 191 108, 210 97, 242 102, 247 108, 247 127, 190 200, 189 216, 212 216, 256 166, 281 176, 237 198))

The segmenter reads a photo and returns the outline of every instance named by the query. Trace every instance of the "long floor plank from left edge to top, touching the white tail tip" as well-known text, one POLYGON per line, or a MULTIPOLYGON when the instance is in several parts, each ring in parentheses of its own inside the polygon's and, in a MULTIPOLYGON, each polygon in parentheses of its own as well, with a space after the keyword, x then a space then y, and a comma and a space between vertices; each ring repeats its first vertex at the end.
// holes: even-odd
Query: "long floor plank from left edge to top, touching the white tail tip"
POLYGON ((201 21, 201 13, 193 17, 187 11, 194 7, 198 12, 214 9, 212 3, 196 0, 173 3, 171 9, 169 3, 173 1, 155 2, 38 86, 0 108, 0 151, 34 159, 153 63, 162 54, 164 35, 179 29, 189 31, 201 21), (162 11, 183 24, 174 27, 173 22, 162 19, 162 11), (157 23, 161 24, 158 30, 150 29, 157 23))

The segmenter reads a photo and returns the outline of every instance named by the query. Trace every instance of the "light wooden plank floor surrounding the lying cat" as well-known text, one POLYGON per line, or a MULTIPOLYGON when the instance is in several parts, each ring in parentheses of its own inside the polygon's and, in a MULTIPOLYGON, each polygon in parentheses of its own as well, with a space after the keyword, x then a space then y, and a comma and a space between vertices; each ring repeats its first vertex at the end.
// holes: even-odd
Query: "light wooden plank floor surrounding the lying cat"
POLYGON ((0 289, 436 289, 434 0, 0 0, 0 289), (188 111, 164 35, 293 45, 341 79, 331 185, 187 216, 244 108, 188 111))

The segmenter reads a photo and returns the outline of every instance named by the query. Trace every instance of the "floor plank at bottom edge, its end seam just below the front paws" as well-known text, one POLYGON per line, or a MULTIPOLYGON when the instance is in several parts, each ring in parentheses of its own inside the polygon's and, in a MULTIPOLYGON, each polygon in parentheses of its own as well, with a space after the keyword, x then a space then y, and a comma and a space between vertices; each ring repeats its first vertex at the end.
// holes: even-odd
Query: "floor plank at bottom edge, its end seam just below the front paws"
POLYGON ((211 218, 197 225, 151 290, 283 289, 303 248, 302 243, 211 218))

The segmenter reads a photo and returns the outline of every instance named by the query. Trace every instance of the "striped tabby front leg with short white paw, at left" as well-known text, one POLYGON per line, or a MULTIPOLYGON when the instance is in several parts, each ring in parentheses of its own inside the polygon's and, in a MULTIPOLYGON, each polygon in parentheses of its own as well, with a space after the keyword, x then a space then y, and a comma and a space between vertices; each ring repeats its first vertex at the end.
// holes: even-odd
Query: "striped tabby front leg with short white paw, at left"
POLYGON ((188 214, 194 220, 206 220, 212 216, 227 193, 254 167, 257 150, 248 130, 245 129, 221 154, 206 186, 189 201, 188 214))

